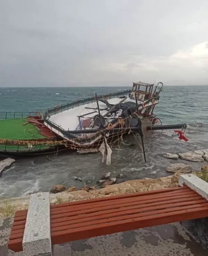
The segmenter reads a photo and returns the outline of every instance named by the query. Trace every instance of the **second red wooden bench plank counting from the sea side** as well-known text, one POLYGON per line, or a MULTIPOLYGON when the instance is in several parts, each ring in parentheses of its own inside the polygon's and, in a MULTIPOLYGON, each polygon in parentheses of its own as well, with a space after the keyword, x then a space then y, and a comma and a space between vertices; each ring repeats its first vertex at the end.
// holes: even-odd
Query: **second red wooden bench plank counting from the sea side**
MULTIPOLYGON (((160 193, 160 194, 152 194, 152 195, 145 195, 142 197, 133 197, 133 198, 122 198, 122 199, 116 199, 113 201, 109 201, 108 205, 115 205, 118 204, 120 201, 122 201, 123 203, 125 202, 136 202, 136 201, 142 201, 142 200, 146 200, 146 199, 159 199, 159 198, 169 198, 171 195, 173 196, 177 196, 177 195, 186 195, 186 194, 195 194, 194 191, 188 189, 188 190, 184 190, 184 191, 180 191, 177 193, 175 193, 175 191, 173 192, 167 192, 167 193, 160 193)), ((98 202, 98 203, 88 203, 87 205, 75 205, 75 206, 66 206, 66 207, 60 207, 60 208, 56 208, 56 209, 51 209, 51 215, 54 214, 58 214, 58 213, 65 213, 67 211, 65 210, 82 210, 82 209, 90 209, 92 207, 99 207, 99 206, 103 206, 103 202, 98 202)), ((105 203, 106 205, 106 203, 105 203)))

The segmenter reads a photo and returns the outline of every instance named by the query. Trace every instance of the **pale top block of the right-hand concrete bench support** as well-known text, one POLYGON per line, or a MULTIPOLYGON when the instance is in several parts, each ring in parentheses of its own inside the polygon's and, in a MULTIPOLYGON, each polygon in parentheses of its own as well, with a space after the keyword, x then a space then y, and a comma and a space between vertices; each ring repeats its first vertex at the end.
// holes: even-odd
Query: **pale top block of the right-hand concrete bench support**
POLYGON ((179 176, 179 185, 183 186, 183 184, 208 200, 208 183, 203 181, 203 179, 200 179, 193 174, 182 174, 179 176))

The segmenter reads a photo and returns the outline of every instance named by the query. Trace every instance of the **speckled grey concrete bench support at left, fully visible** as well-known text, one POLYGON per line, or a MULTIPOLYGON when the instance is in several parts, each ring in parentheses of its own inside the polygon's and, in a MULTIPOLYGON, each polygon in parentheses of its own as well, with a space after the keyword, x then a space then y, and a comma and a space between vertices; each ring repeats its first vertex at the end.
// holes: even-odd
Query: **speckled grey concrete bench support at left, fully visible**
POLYGON ((24 256, 51 256, 50 194, 31 195, 23 237, 24 256))

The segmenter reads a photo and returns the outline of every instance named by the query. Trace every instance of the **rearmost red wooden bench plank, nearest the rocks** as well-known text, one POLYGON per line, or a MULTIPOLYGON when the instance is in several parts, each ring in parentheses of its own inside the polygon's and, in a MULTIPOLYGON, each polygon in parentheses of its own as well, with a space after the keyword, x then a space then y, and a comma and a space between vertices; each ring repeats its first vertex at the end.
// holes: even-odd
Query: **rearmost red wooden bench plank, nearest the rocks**
POLYGON ((112 195, 110 197, 103 197, 103 198, 95 198, 95 199, 89 199, 89 200, 81 200, 81 201, 76 201, 76 202, 61 203, 61 205, 51 205, 51 209, 65 207, 65 206, 71 206, 71 205, 82 205, 82 204, 88 204, 88 203, 93 203, 93 202, 111 201, 111 200, 115 200, 115 199, 140 197, 142 195, 166 193, 166 192, 177 191, 177 190, 185 190, 185 189, 187 189, 187 188, 186 187, 172 187, 172 188, 167 188, 167 189, 152 190, 152 191, 137 192, 137 193, 129 193, 129 194, 123 194, 123 195, 112 195))

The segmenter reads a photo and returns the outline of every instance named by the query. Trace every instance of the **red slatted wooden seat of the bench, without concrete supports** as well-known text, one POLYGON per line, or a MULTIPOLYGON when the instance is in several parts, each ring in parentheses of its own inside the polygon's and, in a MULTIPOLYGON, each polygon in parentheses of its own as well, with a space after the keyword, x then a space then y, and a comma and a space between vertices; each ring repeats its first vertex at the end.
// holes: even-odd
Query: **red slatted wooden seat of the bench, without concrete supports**
MULTIPOLYGON (((27 210, 17 211, 8 248, 22 251, 27 210)), ((50 206, 52 245, 208 216, 208 201, 188 187, 50 206)))

